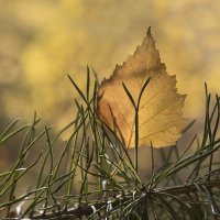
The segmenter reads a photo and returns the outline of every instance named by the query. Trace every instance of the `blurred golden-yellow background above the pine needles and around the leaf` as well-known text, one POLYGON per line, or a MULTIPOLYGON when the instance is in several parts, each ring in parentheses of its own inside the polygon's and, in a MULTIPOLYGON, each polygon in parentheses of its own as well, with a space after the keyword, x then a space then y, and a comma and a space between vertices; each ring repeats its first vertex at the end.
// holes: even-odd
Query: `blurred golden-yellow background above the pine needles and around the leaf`
MULTIPOLYGON (((34 110, 62 129, 78 96, 66 74, 82 89, 87 65, 99 79, 109 76, 150 25, 178 91, 188 95, 185 117, 202 122, 205 81, 220 92, 220 1, 0 0, 0 131, 18 117, 31 121, 34 110)), ((10 158, 2 152, 0 164, 10 158)))

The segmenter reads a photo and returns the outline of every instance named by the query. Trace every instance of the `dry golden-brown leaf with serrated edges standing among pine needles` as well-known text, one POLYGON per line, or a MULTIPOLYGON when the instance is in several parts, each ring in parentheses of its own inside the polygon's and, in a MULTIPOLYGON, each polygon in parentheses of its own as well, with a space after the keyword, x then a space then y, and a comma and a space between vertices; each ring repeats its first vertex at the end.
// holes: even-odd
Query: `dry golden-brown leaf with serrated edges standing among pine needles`
POLYGON ((140 102, 139 143, 165 147, 176 143, 186 125, 182 117, 185 95, 177 94, 176 78, 166 73, 148 29, 141 46, 98 89, 98 114, 129 147, 134 146, 134 107, 122 82, 135 103, 143 84, 151 77, 140 102))

